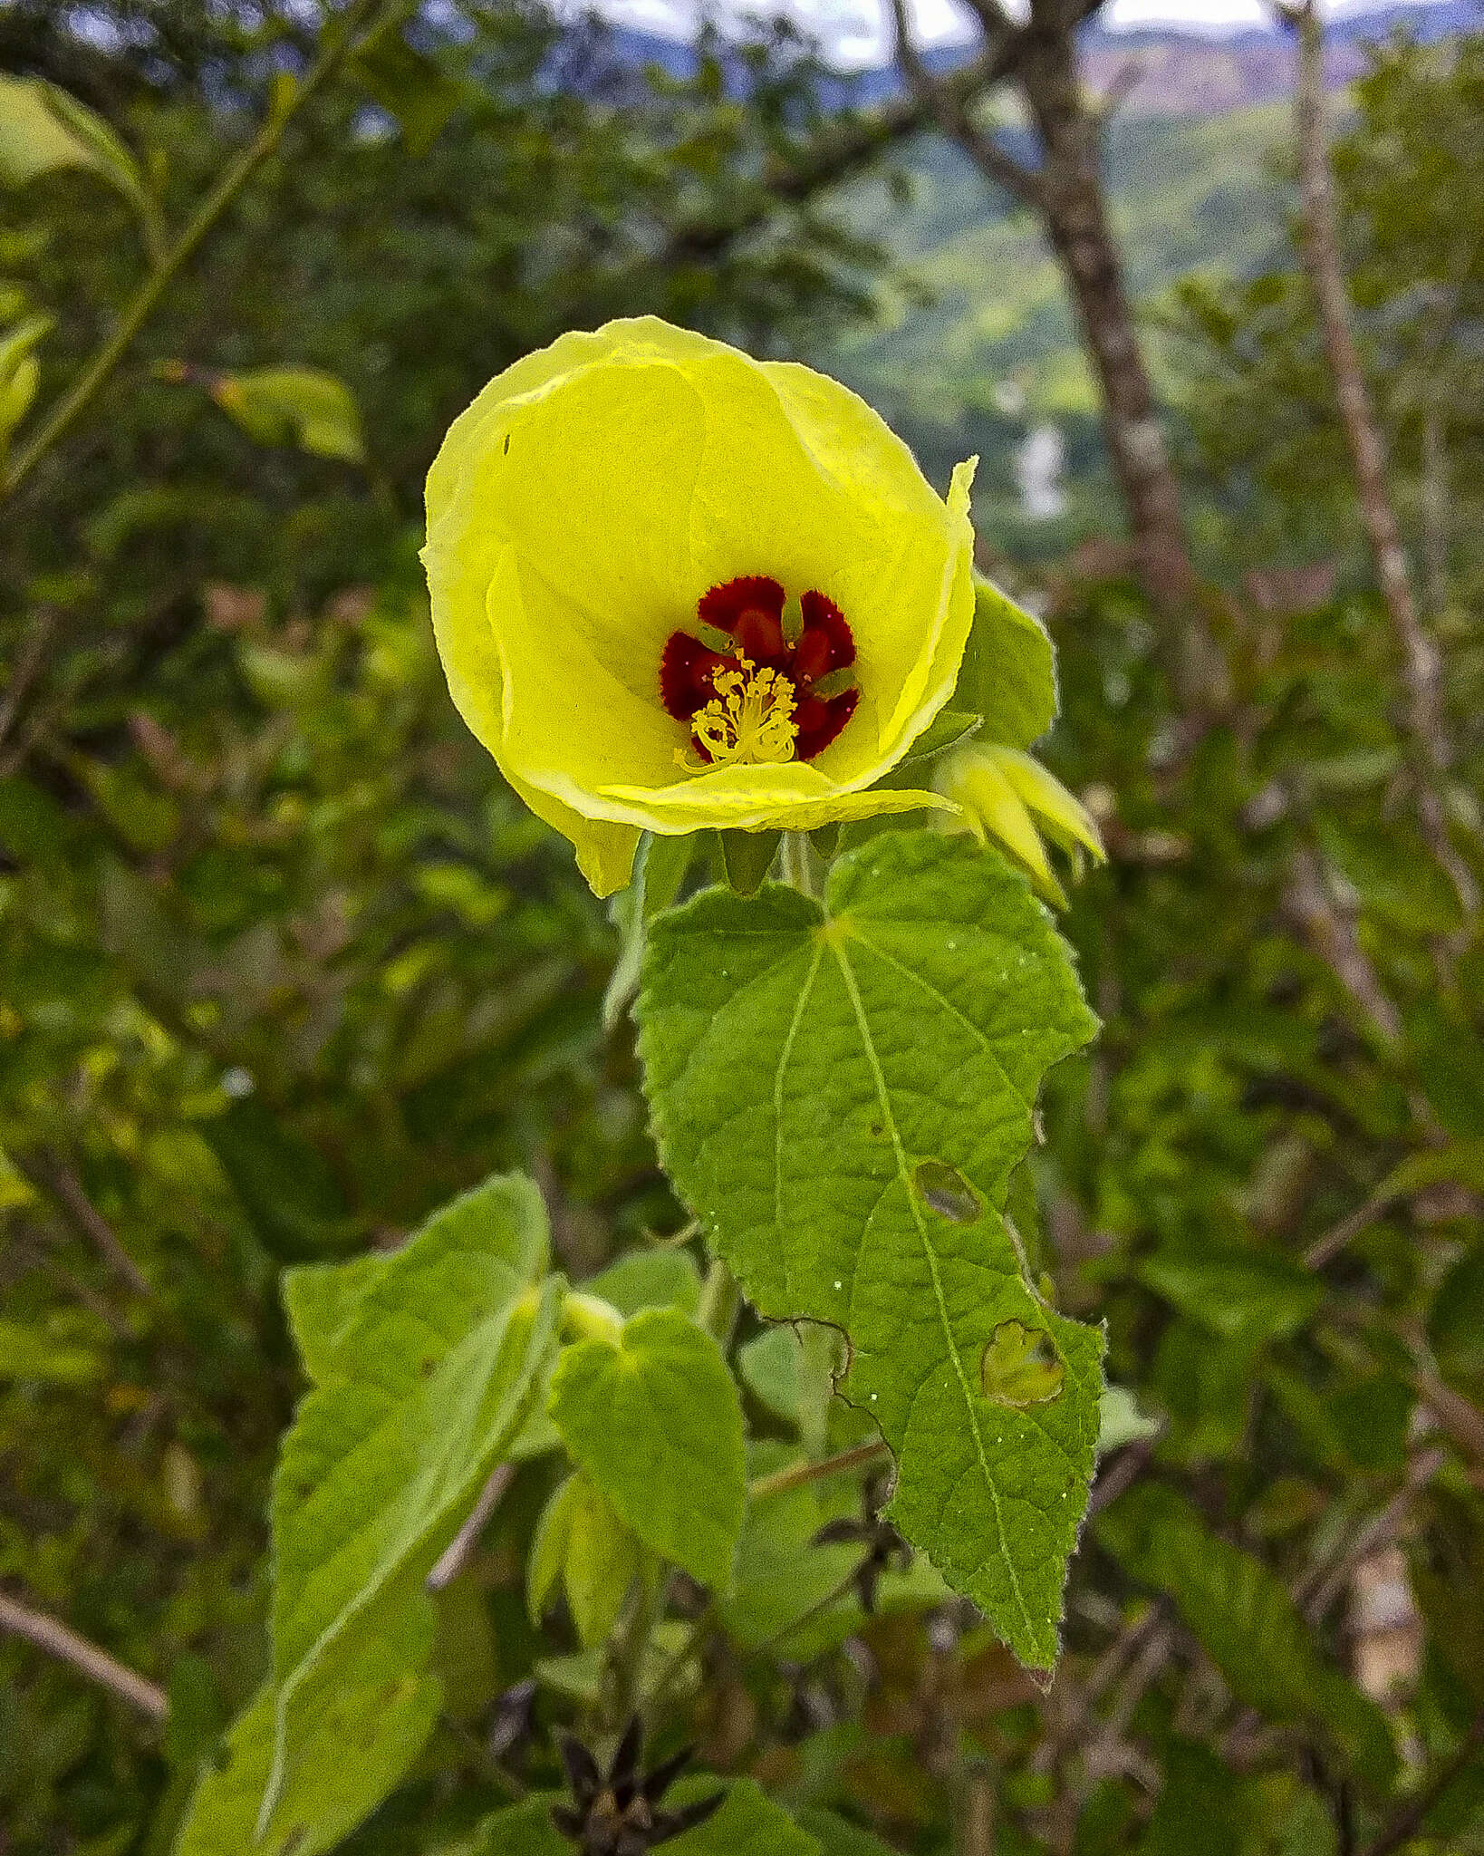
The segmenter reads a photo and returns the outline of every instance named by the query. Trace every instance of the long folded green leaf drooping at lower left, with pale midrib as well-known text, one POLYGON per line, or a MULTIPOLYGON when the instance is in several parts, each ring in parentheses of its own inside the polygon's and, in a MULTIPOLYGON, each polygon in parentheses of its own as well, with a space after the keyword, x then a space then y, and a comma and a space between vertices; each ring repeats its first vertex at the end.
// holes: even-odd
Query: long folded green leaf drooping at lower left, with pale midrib
POLYGON ((536 1186, 486 1180, 371 1279, 321 1351, 326 1379, 299 1407, 273 1483, 278 1754, 265 1810, 336 1639, 393 1581, 421 1581, 525 1422, 556 1344, 558 1284, 527 1288, 545 1258, 536 1186))

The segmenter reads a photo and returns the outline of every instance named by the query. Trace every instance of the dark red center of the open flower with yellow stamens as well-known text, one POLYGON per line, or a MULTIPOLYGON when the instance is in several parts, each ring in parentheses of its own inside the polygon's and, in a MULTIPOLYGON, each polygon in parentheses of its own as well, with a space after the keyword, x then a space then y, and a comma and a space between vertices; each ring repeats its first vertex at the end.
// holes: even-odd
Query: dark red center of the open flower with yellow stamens
POLYGON ((812 761, 855 715, 855 640, 822 592, 790 611, 779 581, 748 574, 712 586, 696 620, 666 640, 660 700, 701 761, 812 761))

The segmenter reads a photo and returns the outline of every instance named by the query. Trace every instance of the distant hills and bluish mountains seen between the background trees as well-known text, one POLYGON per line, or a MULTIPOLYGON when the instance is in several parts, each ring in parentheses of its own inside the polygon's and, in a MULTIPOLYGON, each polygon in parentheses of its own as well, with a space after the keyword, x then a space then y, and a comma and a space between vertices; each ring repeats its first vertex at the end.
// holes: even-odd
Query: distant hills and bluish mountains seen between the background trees
MULTIPOLYGON (((1328 76, 1349 84, 1365 45, 1393 32, 1438 41, 1478 30, 1484 0, 1347 7, 1330 19, 1328 76)), ((618 39, 623 58, 672 72, 692 67, 694 54, 675 39, 627 30, 618 39)), ((939 50, 933 63, 948 69, 965 56, 939 50)), ((1122 93, 1107 132, 1107 189, 1158 380, 1165 356, 1152 312, 1172 286, 1202 269, 1252 273, 1284 245, 1295 204, 1280 178, 1293 46, 1276 26, 1117 32, 1094 19, 1081 33, 1081 65, 1098 95, 1122 93)), ((840 76, 829 100, 863 106, 896 91, 890 69, 861 71, 840 76)), ((1015 145, 1020 132, 1002 108, 1015 145)), ((1031 217, 1009 212, 939 137, 918 139, 898 165, 911 173, 909 204, 881 178, 842 189, 837 204, 894 252, 905 284, 881 291, 872 327, 809 358, 870 399, 935 481, 981 453, 979 531, 1020 561, 1057 557, 1117 522, 1096 393, 1057 265, 1031 217)))

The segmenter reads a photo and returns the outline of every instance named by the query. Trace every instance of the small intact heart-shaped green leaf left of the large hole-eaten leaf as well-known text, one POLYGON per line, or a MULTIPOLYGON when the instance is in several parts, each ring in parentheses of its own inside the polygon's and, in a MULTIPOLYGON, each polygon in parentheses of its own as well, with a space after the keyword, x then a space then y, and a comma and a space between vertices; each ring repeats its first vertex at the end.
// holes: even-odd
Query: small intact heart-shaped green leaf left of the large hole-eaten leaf
POLYGON ((549 1411, 638 1539, 725 1591, 748 1466, 736 1385, 710 1334, 677 1308, 649 1308, 618 1340, 581 1340, 556 1362, 549 1411))

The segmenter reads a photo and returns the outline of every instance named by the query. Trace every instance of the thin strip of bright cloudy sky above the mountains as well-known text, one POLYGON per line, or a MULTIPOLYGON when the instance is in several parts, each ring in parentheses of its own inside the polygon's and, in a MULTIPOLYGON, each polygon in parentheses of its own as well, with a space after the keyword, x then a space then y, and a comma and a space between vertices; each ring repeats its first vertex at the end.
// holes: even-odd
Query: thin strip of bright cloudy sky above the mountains
MULTIPOLYGON (((924 45, 946 45, 972 37, 972 15, 961 0, 909 0, 916 13, 924 45)), ((877 65, 887 58, 889 28, 885 0, 770 0, 749 7, 748 0, 597 0, 599 11, 629 26, 644 26, 686 37, 703 7, 727 20, 744 11, 788 11, 811 30, 840 63, 877 65)), ((1334 11, 1334 4, 1324 7, 1334 11)), ((1015 6, 1011 4, 1011 11, 1015 6)), ((1271 20, 1261 0, 1109 0, 1102 19, 1113 26, 1139 26, 1148 20, 1230 32, 1271 20)))

